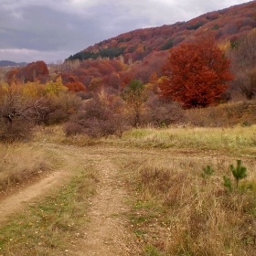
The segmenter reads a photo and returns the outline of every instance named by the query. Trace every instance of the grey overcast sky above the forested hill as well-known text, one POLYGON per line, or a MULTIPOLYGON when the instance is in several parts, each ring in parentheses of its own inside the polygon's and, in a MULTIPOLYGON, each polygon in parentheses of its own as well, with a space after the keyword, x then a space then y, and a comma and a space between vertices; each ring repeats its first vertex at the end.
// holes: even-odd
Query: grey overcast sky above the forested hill
POLYGON ((0 60, 56 63, 101 40, 246 0, 0 0, 0 60))

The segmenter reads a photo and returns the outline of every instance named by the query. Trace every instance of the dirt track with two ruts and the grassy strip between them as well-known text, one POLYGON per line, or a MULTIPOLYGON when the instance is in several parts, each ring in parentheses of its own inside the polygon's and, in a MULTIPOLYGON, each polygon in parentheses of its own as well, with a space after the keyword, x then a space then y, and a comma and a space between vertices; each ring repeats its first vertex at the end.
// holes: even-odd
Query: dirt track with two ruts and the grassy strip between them
POLYGON ((0 202, 0 255, 140 255, 134 235, 127 229, 125 177, 112 158, 118 151, 44 146, 54 155, 61 153, 62 169, 0 202), (8 216, 12 219, 5 226, 8 216), (22 224, 18 227, 17 223, 22 224), (24 239, 16 237, 20 233, 24 239), (34 236, 37 233, 41 236, 34 236), (48 241, 46 236, 50 237, 48 241), (29 245, 24 247, 28 240, 29 245))

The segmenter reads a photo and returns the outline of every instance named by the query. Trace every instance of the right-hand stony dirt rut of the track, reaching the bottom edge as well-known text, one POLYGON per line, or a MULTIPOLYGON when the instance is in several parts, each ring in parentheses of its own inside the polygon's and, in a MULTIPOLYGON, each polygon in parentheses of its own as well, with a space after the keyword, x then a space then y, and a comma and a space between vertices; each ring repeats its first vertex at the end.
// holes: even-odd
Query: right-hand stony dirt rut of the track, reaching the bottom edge
POLYGON ((140 255, 133 234, 126 228, 128 195, 122 178, 110 160, 104 159, 102 164, 97 192, 90 201, 90 223, 74 255, 140 255))

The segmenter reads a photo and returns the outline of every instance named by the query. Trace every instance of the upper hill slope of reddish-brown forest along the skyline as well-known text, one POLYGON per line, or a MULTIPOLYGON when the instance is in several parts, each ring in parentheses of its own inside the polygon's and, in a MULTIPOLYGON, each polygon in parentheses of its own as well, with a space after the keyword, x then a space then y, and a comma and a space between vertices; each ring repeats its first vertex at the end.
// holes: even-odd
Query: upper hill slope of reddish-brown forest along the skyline
POLYGON ((124 63, 144 61, 155 51, 165 51, 181 42, 191 42, 207 35, 219 43, 235 43, 242 35, 256 27, 256 1, 197 16, 187 22, 137 29, 101 41, 69 57, 72 59, 116 58, 124 63))

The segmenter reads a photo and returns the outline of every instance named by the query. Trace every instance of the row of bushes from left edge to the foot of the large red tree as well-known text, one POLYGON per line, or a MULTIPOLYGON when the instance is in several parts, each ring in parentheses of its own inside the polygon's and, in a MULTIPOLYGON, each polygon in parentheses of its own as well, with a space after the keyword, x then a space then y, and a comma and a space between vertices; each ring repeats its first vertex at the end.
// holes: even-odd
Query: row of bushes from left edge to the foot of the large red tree
POLYGON ((37 125, 65 123, 68 136, 122 136, 132 127, 161 127, 182 116, 177 103, 161 101, 138 80, 120 94, 101 88, 86 101, 79 92, 69 91, 61 78, 46 84, 2 84, 0 90, 0 141, 5 143, 29 139, 37 125))

